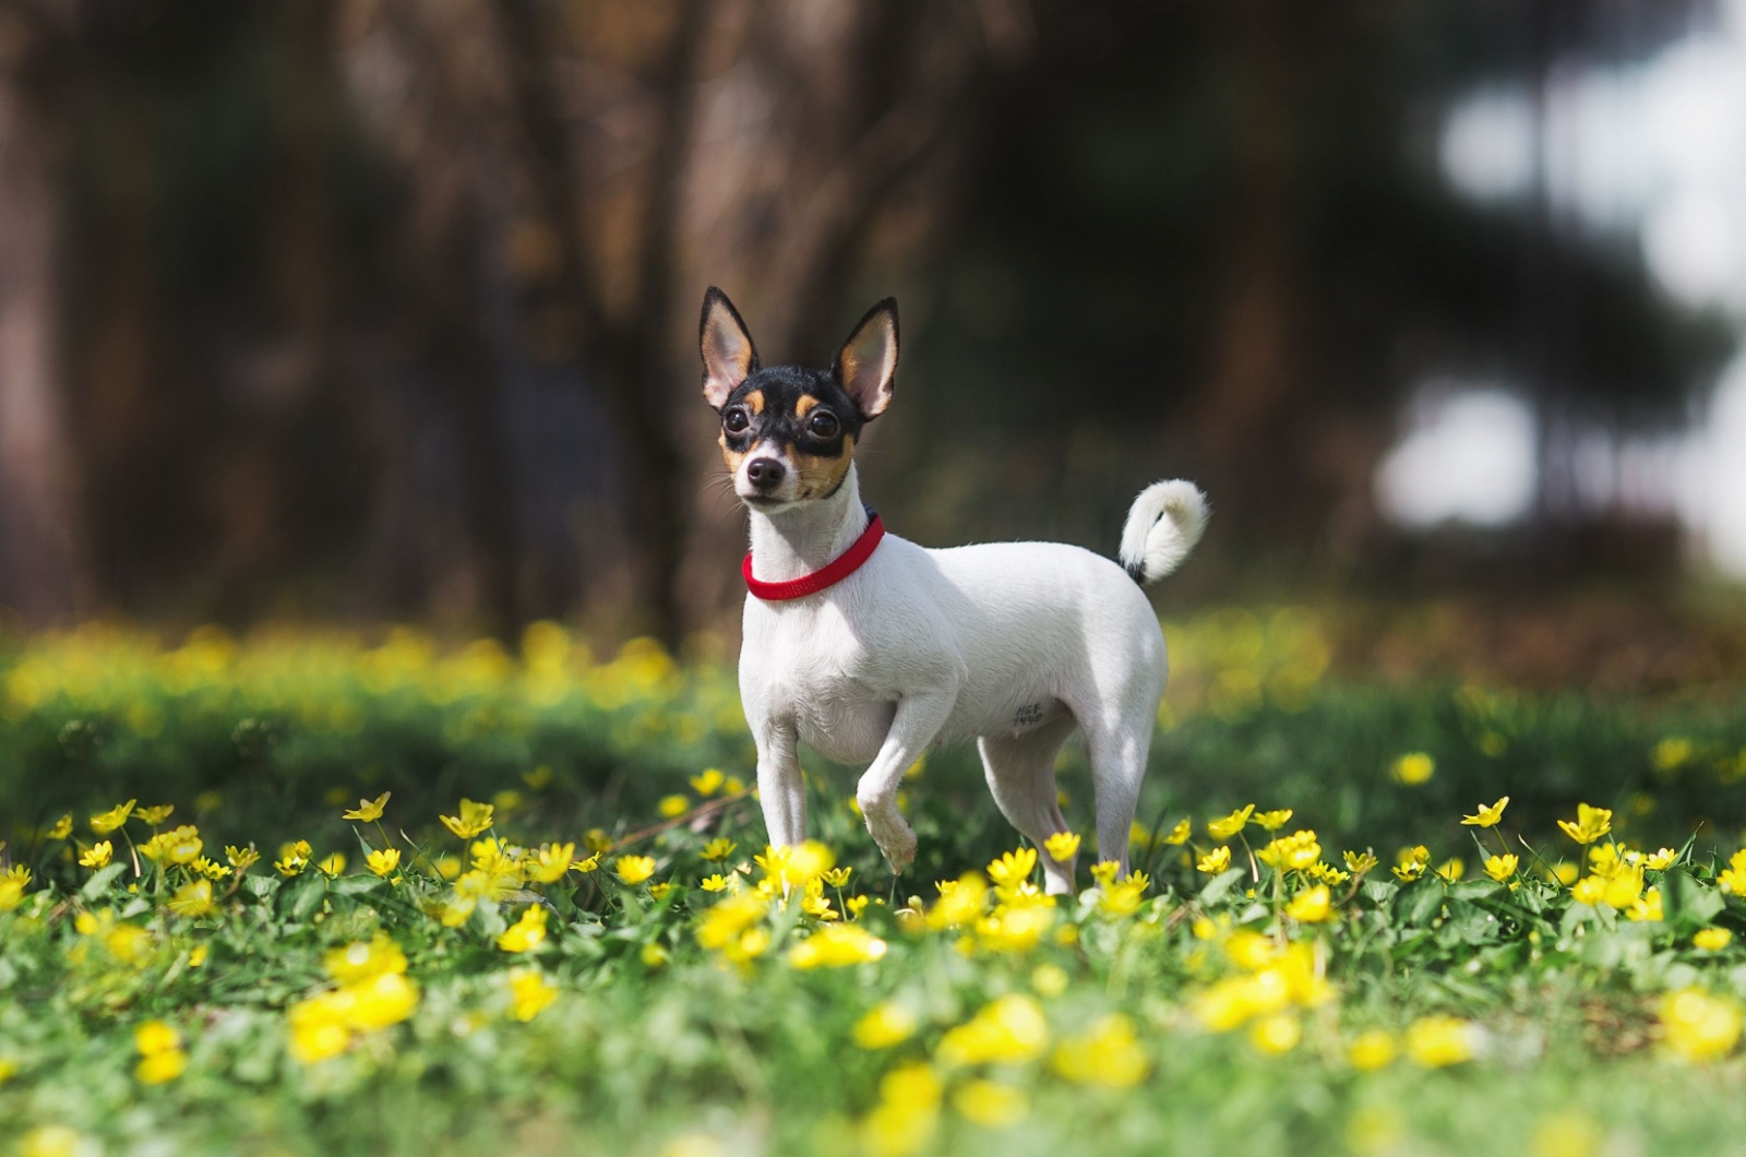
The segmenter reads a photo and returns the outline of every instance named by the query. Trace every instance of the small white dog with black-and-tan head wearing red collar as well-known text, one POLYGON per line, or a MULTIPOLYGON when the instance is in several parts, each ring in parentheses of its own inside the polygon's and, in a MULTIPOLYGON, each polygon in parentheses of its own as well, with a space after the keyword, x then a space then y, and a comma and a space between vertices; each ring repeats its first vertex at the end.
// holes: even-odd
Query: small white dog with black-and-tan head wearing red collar
POLYGON ((873 306, 829 371, 763 367, 719 288, 698 323, 704 398, 751 517, 740 699, 758 745, 773 846, 807 837, 798 745, 868 764, 856 790, 892 872, 915 858, 897 783, 929 746, 976 738, 995 804, 1072 893, 1077 855, 1055 760, 1084 732, 1098 853, 1128 874, 1128 832, 1159 697, 1165 638, 1142 584, 1173 572, 1206 524, 1191 482, 1149 486, 1121 535, 1121 566, 1091 551, 1004 542, 931 551, 883 533, 861 503, 854 451, 890 405, 897 302, 873 306))

